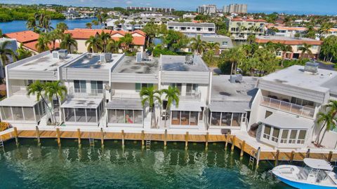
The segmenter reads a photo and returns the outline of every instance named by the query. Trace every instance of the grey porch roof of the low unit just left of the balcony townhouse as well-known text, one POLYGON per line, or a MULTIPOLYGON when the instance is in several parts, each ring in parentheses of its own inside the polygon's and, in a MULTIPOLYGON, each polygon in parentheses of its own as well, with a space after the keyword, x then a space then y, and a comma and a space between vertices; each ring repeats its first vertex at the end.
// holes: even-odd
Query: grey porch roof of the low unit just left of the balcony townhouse
POLYGON ((249 102, 211 102, 209 110, 211 112, 246 113, 250 108, 249 102))

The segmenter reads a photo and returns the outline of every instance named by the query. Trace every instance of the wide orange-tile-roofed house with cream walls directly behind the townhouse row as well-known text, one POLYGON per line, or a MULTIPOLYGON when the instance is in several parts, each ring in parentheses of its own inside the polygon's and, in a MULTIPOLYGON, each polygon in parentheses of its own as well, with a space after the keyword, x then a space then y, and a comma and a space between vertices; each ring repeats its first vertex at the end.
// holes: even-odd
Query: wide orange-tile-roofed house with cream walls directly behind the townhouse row
POLYGON ((133 36, 132 48, 139 52, 143 52, 145 48, 146 34, 143 31, 136 30, 132 32, 128 31, 114 31, 111 29, 71 29, 65 31, 65 34, 72 34, 72 37, 77 41, 77 52, 87 52, 86 40, 91 36, 97 36, 102 32, 110 34, 111 38, 118 41, 119 38, 125 36, 125 34, 131 34, 133 36))

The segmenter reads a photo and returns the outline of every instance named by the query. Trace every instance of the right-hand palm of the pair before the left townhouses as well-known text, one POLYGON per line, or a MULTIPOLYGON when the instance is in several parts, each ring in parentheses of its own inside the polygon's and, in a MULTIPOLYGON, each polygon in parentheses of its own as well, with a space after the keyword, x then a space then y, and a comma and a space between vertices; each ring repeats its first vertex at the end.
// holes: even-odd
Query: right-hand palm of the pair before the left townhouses
POLYGON ((62 122, 62 111, 61 111, 61 102, 67 96, 67 87, 63 85, 62 81, 55 80, 53 82, 46 83, 46 96, 48 97, 49 101, 53 101, 53 97, 56 97, 58 101, 58 111, 59 111, 59 123, 62 122))

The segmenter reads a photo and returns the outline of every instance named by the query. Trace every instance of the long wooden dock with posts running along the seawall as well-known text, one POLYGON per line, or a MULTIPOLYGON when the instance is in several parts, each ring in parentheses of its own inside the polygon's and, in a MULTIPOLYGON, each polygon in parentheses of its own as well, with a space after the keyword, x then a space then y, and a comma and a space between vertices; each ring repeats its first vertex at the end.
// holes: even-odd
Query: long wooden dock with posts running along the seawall
MULTIPOLYGON (((63 128, 49 128, 48 130, 39 129, 37 127, 36 130, 19 130, 16 128, 11 128, 4 132, 1 132, 0 139, 1 141, 7 141, 10 139, 18 140, 20 138, 30 138, 30 139, 58 139, 58 144, 61 144, 61 139, 78 139, 79 145, 81 145, 81 139, 91 139, 91 140, 100 140, 102 142, 102 146, 104 146, 105 140, 122 140, 122 144, 124 146, 124 140, 131 141, 142 141, 142 147, 145 146, 145 141, 163 141, 164 147, 166 147, 167 142, 185 142, 185 148, 187 148, 187 144, 189 142, 193 143, 204 143, 207 148, 209 143, 223 143, 227 148, 227 144, 231 144, 230 151, 234 150, 234 147, 238 148, 241 151, 240 156, 243 157, 244 154, 249 155, 253 161, 256 160, 256 164, 258 165, 258 161, 260 160, 272 160, 275 162, 278 161, 302 161, 304 158, 317 158, 331 161, 337 160, 337 151, 310 151, 308 150, 270 150, 264 148, 256 148, 250 144, 250 141, 244 140, 244 137, 237 137, 234 134, 209 134, 206 132, 205 134, 194 134, 186 132, 185 134, 172 134, 168 133, 165 130, 162 133, 151 132, 146 133, 144 130, 141 132, 135 131, 124 131, 113 132, 113 131, 103 131, 101 130, 93 130, 93 131, 81 131, 77 130, 65 130, 63 128), (234 145, 232 145, 234 144, 234 145)), ((275 163, 277 165, 277 163, 275 163)))

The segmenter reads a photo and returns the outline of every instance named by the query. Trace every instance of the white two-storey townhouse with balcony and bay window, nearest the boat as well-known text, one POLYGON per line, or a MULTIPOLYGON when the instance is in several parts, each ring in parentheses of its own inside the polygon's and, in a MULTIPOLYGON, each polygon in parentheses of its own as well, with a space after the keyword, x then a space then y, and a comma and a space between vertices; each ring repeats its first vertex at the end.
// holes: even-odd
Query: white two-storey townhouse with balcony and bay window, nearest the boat
MULTIPOLYGON (((312 145, 320 129, 317 113, 337 94, 337 72, 317 66, 308 62, 258 79, 249 120, 258 141, 277 148, 312 145)), ((326 141, 324 146, 335 148, 336 133, 328 132, 326 141)))

